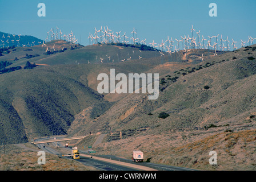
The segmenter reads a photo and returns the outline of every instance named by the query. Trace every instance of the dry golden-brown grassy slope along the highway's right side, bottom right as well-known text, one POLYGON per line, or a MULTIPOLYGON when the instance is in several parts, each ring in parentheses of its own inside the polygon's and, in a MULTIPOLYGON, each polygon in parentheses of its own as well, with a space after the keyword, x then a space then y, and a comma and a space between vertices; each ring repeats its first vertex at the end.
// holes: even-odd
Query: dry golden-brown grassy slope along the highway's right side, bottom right
POLYGON ((145 160, 171 166, 204 170, 255 170, 256 130, 211 134, 175 133, 131 137, 102 143, 95 147, 98 154, 125 156, 133 150, 145 153, 145 160), (209 164, 209 152, 217 152, 217 165, 209 164))

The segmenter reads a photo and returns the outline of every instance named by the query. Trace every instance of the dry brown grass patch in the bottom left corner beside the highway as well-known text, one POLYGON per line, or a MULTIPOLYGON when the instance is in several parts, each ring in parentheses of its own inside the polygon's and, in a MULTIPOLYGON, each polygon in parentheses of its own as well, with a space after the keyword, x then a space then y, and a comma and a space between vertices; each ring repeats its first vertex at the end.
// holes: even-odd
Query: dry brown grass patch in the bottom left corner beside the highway
MULTIPOLYGON (((33 148, 31 144, 28 147, 33 148)), ((38 148, 37 148, 38 150, 38 148)), ((46 153, 46 164, 39 165, 37 152, 19 148, 14 144, 0 146, 1 171, 91 171, 94 167, 85 166, 71 159, 59 158, 58 155, 46 153), (5 154, 4 154, 5 152, 5 154)))

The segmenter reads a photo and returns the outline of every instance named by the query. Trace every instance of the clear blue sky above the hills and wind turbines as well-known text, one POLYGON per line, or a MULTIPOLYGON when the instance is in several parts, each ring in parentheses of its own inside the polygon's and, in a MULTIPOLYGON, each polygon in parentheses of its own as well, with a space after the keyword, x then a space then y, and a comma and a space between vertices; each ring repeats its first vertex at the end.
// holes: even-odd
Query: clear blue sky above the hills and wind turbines
MULTIPOLYGON (((90 0, 90 1, 12 1, 0 0, 0 31, 33 35, 45 40, 47 31, 58 26, 63 33, 74 32, 78 42, 87 45, 94 27, 108 26, 131 38, 133 27, 138 38, 160 44, 167 36, 191 36, 191 25, 201 36, 229 36, 241 47, 241 40, 256 38, 256 1, 231 0, 90 0), (39 17, 38 3, 45 3, 46 16, 39 17), (209 16, 209 4, 217 4, 217 17, 209 16)), ((194 32, 194 36, 196 33, 194 32)), ((231 42, 231 41, 230 41, 231 42)), ((256 40, 255 40, 256 43, 256 40)))

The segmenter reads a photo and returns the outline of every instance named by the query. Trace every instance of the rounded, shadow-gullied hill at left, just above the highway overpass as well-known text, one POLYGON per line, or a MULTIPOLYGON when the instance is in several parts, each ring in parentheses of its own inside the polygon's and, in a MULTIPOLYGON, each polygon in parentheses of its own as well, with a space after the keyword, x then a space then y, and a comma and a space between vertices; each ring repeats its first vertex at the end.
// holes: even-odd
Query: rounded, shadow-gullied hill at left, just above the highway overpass
POLYGON ((1 75, 1 142, 19 143, 36 136, 66 134, 74 115, 82 109, 93 103, 100 114, 108 108, 111 104, 89 88, 83 77, 86 69, 79 71, 77 65, 22 69, 1 75))

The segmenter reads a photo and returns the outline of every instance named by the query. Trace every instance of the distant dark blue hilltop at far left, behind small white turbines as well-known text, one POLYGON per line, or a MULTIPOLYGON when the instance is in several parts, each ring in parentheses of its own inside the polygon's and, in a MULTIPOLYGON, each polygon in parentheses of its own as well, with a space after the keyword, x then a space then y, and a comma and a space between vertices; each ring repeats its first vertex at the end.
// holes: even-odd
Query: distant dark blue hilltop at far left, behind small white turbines
POLYGON ((31 47, 43 43, 43 40, 31 35, 15 35, 0 31, 0 48, 2 47, 31 47))

